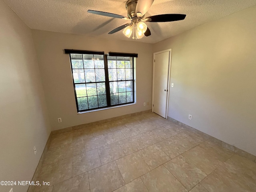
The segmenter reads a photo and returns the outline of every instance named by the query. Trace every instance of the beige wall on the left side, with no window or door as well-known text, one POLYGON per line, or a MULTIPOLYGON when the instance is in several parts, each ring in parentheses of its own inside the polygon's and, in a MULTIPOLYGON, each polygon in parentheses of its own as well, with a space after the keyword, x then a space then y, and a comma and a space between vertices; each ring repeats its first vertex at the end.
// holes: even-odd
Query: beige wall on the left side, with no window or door
MULTIPOLYGON (((32 179, 50 123, 31 30, 0 0, 0 180, 32 179), (34 155, 33 147, 37 154, 34 155)), ((1 192, 28 186, 0 186, 1 192)))

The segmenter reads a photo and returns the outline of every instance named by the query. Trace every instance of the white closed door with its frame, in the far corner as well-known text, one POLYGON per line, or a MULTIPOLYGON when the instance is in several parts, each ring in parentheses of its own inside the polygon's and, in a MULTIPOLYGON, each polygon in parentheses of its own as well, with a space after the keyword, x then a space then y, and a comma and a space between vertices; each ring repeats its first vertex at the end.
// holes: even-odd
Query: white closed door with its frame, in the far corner
POLYGON ((167 118, 171 50, 154 53, 152 111, 167 118))

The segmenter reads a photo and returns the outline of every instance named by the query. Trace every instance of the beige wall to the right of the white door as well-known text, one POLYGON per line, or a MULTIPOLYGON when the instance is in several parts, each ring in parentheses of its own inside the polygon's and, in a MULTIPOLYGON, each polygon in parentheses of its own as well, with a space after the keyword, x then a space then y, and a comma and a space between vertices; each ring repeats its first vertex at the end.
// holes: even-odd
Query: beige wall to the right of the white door
POLYGON ((256 155, 256 6, 154 44, 169 48, 168 116, 256 155))

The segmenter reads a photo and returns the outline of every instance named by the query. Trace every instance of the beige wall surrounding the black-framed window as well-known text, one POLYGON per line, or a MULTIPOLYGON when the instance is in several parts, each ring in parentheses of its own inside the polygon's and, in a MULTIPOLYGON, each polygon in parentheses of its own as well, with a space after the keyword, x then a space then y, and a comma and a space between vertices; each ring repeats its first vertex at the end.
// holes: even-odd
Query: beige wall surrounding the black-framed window
POLYGON ((32 30, 52 130, 95 122, 151 109, 152 44, 84 35, 32 30), (138 53, 136 59, 137 103, 97 112, 77 114, 69 55, 64 49, 138 53), (143 106, 149 102, 148 106, 143 106), (58 123, 62 118, 62 123, 58 123))

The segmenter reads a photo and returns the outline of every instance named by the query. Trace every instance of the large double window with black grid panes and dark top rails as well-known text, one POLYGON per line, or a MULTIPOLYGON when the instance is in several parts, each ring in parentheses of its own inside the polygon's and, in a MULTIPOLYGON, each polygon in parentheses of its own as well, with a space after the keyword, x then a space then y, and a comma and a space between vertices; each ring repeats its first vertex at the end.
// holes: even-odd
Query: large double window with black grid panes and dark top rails
POLYGON ((65 52, 70 54, 78 112, 134 103, 133 54, 65 52))

